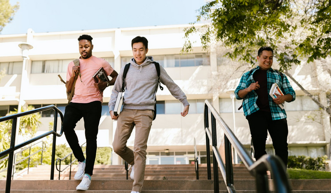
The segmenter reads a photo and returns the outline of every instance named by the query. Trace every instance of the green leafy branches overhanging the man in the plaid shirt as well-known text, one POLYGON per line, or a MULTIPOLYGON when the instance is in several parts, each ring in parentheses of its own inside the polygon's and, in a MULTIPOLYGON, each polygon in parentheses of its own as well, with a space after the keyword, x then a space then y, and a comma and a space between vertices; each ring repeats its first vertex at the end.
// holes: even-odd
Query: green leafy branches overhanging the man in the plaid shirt
POLYGON ((257 49, 274 48, 280 70, 331 54, 331 1, 212 0, 199 10, 197 22, 210 24, 185 29, 182 52, 192 50, 191 34, 199 33, 204 49, 219 42, 229 58, 255 63, 257 49))

